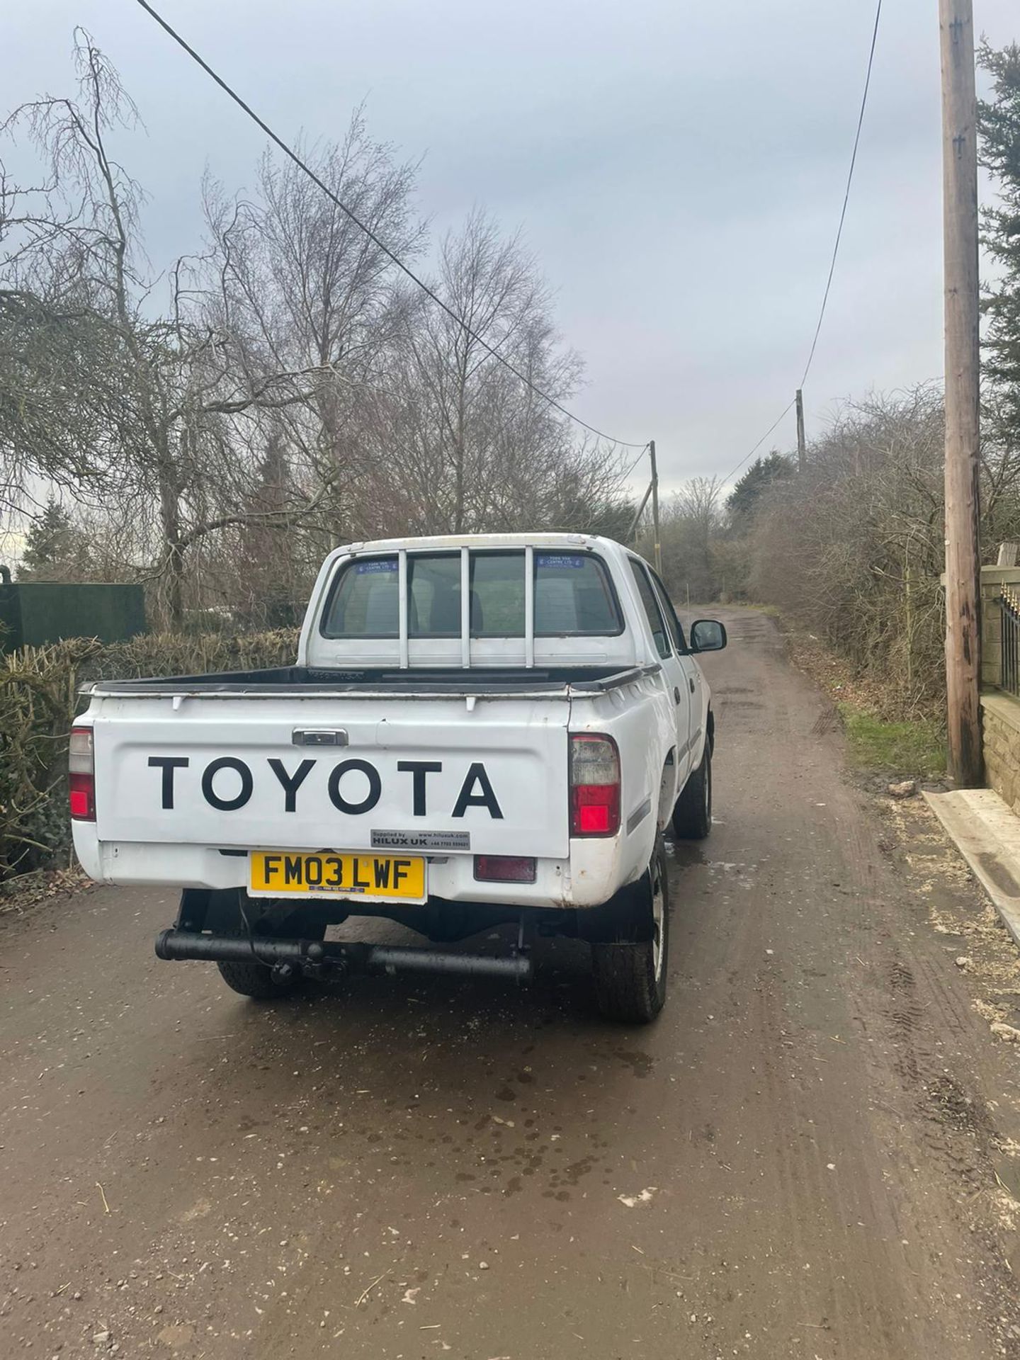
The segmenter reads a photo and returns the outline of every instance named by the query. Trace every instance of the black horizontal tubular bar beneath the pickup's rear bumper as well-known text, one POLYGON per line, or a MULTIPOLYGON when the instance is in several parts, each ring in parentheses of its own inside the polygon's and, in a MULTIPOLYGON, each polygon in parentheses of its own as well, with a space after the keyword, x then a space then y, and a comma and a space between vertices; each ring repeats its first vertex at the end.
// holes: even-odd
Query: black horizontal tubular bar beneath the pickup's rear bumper
POLYGON ((197 934, 193 930, 160 930, 158 959, 205 959, 227 963, 288 963, 305 972, 324 967, 381 968, 384 972, 450 972, 469 978, 510 978, 526 982, 532 960, 515 953, 509 957, 415 949, 405 945, 341 944, 318 940, 273 940, 267 936, 197 934))

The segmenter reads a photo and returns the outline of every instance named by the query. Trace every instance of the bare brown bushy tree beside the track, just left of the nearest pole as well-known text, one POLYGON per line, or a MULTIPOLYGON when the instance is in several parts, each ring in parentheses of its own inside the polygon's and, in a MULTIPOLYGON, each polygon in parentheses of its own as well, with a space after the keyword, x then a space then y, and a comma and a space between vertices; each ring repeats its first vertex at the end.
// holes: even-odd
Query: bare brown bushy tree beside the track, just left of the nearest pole
POLYGON ((900 711, 941 691, 941 462, 936 386, 846 404, 751 533, 753 593, 888 681, 900 711))

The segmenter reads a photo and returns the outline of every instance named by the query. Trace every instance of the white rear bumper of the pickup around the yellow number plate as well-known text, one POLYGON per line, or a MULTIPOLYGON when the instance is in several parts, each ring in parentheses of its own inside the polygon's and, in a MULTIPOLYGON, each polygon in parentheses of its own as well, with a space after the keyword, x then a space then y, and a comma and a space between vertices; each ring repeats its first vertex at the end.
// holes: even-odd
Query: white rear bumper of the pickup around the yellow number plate
MULTIPOLYGON (((447 902, 547 910, 598 907, 627 883, 639 877, 651 854, 651 820, 646 819, 649 845, 639 836, 571 840, 567 860, 537 860, 534 883, 479 883, 473 855, 428 855, 430 898, 447 902)), ((88 823, 75 823, 75 851, 84 872, 98 883, 171 888, 246 888, 248 851, 192 845, 99 840, 88 823)), ((526 846, 521 846, 526 854, 526 846)), ((359 915, 360 898, 294 898, 344 904, 359 915)), ((378 906, 378 903, 373 903, 378 906)), ((413 910, 408 907, 407 910, 413 910)))

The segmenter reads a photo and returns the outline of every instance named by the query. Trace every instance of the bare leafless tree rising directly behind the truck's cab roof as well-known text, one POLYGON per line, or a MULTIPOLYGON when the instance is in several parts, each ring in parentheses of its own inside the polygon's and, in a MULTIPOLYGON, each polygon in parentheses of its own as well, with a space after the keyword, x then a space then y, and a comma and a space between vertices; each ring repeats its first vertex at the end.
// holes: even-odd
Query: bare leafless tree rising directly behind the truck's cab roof
MULTIPOLYGON (((379 422, 407 521, 460 533, 547 520, 556 483, 578 484, 578 450, 559 412, 480 341, 566 400, 581 364, 559 344, 548 288, 521 239, 477 211, 443 239, 435 288, 453 316, 408 299, 379 422)), ((594 469, 601 453, 588 452, 594 469)))

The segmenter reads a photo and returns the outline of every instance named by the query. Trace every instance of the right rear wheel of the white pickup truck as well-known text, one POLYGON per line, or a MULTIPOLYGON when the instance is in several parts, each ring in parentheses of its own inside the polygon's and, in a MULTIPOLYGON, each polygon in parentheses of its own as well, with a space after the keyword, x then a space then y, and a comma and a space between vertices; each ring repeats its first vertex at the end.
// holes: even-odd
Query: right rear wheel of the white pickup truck
POLYGON ((596 1001, 608 1020, 647 1024, 666 1000, 669 967, 669 879, 662 836, 642 880, 651 930, 636 944, 593 944, 596 1001))

